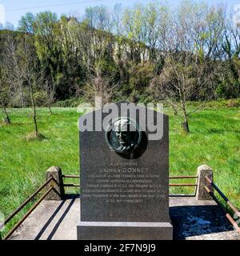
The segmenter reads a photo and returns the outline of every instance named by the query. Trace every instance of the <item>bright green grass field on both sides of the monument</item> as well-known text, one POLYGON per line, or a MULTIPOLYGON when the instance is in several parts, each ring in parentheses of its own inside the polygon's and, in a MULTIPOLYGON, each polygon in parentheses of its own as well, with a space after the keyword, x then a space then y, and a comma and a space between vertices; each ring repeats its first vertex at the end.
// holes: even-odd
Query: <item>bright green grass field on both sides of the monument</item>
MULTIPOLYGON (((9 112, 12 124, 0 123, 0 212, 5 216, 45 181, 50 166, 61 166, 66 174, 78 174, 79 170, 79 114, 75 108, 54 108, 53 115, 39 109, 39 130, 46 137, 42 141, 26 140, 34 130, 30 109, 9 112)), ((240 208, 239 108, 208 105, 192 115, 188 135, 182 133, 181 121, 171 109, 166 109, 166 114, 170 115, 170 175, 194 175, 198 166, 211 166, 217 185, 240 208)), ((171 189, 172 193, 191 191, 171 189)), ((6 231, 24 212, 10 222, 6 231)))

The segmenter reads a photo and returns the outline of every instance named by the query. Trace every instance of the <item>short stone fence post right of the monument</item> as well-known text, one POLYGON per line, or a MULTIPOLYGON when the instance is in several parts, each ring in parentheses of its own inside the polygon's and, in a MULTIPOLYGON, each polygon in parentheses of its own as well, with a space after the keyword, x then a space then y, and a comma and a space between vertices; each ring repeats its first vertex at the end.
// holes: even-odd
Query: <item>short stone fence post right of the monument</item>
POLYGON ((207 193, 205 186, 207 186, 210 191, 214 193, 213 187, 206 182, 205 176, 208 176, 212 181, 214 178, 213 170, 211 167, 203 165, 198 167, 198 190, 197 190, 197 200, 212 200, 213 198, 207 193))

